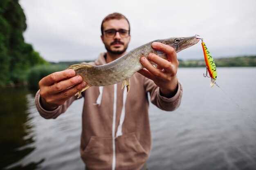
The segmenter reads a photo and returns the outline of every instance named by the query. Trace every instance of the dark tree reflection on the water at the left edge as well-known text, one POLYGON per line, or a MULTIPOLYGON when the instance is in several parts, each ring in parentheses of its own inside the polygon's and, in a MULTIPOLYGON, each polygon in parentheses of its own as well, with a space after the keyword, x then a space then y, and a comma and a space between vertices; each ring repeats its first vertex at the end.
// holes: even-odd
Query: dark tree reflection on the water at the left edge
POLYGON ((27 93, 22 88, 0 89, 0 169, 35 170, 44 161, 19 163, 35 150, 34 126, 27 124, 31 119, 27 111, 27 93))

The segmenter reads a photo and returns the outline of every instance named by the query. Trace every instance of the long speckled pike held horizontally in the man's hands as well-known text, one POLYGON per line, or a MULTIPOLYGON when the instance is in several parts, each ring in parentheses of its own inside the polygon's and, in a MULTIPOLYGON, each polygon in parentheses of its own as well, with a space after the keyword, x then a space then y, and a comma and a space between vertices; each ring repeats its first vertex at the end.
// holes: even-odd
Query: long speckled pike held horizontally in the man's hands
MULTIPOLYGON (((167 59, 166 54, 151 47, 153 42, 161 42, 169 45, 175 49, 176 53, 178 53, 198 43, 199 39, 197 36, 198 35, 154 40, 129 51, 108 64, 103 64, 101 66, 93 66, 83 63, 71 65, 67 69, 73 69, 76 72, 76 75, 83 77, 83 81, 87 83, 85 88, 77 92, 76 95, 79 98, 81 93, 91 86, 107 86, 117 84, 119 82, 123 82, 122 89, 126 86, 127 92, 129 92, 130 77, 137 71, 144 68, 140 63, 141 57, 147 58, 149 53, 155 53, 159 57, 167 59)), ((153 62, 151 63, 153 66, 157 66, 153 62)))

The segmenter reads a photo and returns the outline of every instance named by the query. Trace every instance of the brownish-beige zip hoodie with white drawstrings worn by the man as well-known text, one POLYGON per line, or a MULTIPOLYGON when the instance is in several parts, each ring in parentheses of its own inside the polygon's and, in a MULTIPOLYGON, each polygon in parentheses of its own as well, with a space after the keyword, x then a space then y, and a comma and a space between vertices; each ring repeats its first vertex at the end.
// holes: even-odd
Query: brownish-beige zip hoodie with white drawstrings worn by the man
MULTIPOLYGON (((104 53, 91 64, 106 64, 104 53)), ((127 95, 125 88, 125 91, 121 90, 121 83, 92 86, 83 92, 80 152, 90 170, 140 170, 151 150, 147 93, 150 93, 151 102, 162 110, 172 111, 180 105, 180 83, 177 93, 170 99, 161 96, 159 87, 139 73, 130 78, 130 84, 127 95)), ((35 102, 40 115, 45 119, 55 119, 76 97, 71 97, 52 111, 43 109, 39 99, 38 91, 35 102)))

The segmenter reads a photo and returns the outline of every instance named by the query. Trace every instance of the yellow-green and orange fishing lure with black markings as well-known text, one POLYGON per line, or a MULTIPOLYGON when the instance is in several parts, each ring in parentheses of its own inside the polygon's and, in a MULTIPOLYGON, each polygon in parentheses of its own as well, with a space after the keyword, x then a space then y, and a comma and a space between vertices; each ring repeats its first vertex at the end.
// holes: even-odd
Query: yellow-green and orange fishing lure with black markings
POLYGON ((216 70, 216 64, 213 60, 213 57, 211 56, 207 46, 205 43, 202 41, 202 48, 204 51, 204 61, 207 66, 207 71, 211 77, 211 84, 210 86, 213 87, 214 84, 216 84, 216 79, 217 79, 217 70, 216 70))

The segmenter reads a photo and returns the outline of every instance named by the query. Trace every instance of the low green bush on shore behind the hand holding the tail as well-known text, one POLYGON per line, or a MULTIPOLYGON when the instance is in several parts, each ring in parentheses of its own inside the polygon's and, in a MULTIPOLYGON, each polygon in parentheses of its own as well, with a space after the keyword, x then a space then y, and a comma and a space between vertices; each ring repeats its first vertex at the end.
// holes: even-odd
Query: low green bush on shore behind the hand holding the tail
POLYGON ((27 75, 29 89, 37 90, 38 82, 40 81, 40 79, 56 71, 65 70, 67 67, 68 65, 65 65, 65 64, 34 66, 33 68, 30 69, 27 75))

